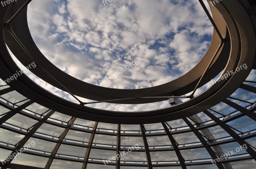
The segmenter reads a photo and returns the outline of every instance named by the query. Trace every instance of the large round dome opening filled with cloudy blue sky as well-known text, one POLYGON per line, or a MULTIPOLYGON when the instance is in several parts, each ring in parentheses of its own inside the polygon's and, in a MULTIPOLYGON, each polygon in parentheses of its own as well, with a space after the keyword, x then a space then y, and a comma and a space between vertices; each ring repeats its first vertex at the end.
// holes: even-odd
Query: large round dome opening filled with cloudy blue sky
POLYGON ((37 0, 28 5, 28 25, 56 67, 120 89, 153 87, 187 73, 213 33, 196 0, 37 0))

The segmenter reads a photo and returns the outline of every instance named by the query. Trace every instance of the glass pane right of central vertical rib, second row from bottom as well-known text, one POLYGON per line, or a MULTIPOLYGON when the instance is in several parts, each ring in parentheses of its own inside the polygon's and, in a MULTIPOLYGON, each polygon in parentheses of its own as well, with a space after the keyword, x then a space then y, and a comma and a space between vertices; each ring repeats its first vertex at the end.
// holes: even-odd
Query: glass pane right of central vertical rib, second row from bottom
POLYGON ((127 151, 125 151, 125 153, 127 153, 127 154, 125 154, 125 155, 121 154, 121 161, 147 162, 145 152, 136 152, 136 151, 127 152, 127 151))

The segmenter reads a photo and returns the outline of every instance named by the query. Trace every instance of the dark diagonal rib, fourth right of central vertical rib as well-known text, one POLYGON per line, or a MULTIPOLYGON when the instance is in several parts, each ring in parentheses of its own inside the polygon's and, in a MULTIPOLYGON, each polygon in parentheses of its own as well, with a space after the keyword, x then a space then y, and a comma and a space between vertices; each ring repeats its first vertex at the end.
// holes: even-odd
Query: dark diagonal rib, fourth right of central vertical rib
POLYGON ((210 118, 212 118, 212 120, 214 120, 216 123, 219 124, 219 126, 221 128, 223 128, 231 137, 233 137, 237 143, 239 143, 241 146, 242 145, 247 145, 247 149, 245 151, 247 151, 250 156, 256 160, 256 152, 252 149, 252 147, 250 147, 250 144, 248 144, 247 142, 244 141, 243 138, 241 138, 238 134, 236 134, 236 132, 234 130, 232 130, 228 124, 222 122, 220 119, 218 119, 216 116, 214 116, 212 113, 210 113, 209 111, 205 110, 203 111, 207 116, 209 116, 210 118))

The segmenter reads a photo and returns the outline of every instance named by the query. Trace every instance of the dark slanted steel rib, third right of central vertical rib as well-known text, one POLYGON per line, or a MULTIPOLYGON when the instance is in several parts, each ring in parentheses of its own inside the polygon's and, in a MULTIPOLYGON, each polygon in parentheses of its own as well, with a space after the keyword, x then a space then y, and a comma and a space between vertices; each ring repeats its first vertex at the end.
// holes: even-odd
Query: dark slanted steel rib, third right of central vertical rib
MULTIPOLYGON (((208 151, 208 153, 210 154, 210 156, 212 157, 212 159, 216 159, 218 158, 217 155, 215 154, 215 152, 212 150, 211 146, 204 140, 204 137, 201 135, 201 133, 196 130, 196 128, 193 126, 192 123, 189 122, 189 120, 187 118, 183 118, 183 120, 185 121, 185 123, 188 124, 188 127, 195 133, 196 137, 201 141, 201 143, 204 145, 205 149, 208 151)), ((220 169, 225 169, 223 167, 223 165, 221 164, 221 162, 216 161, 216 165, 218 166, 218 168, 220 169)))

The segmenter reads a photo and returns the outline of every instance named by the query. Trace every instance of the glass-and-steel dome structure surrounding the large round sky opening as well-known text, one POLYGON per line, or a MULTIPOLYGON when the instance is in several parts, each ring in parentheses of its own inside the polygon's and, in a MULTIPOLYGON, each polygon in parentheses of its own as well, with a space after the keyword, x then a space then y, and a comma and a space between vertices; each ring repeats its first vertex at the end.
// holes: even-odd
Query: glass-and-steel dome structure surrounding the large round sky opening
MULTIPOLYGON (((44 22, 30 20, 28 27, 31 1, 4 1, 0 6, 1 169, 255 168, 254 1, 193 1, 214 27, 204 57, 166 86, 136 90, 93 86, 59 72, 30 34, 33 24, 44 22), (92 102, 101 106, 88 106, 92 102), (133 104, 136 109, 129 107, 133 104)), ((47 2, 38 1, 46 6, 47 2)), ((99 1, 110 7, 114 3, 99 1)), ((181 4, 191 5, 186 3, 181 4)), ((82 5, 74 4, 75 9, 82 5)), ((58 10, 66 8, 64 3, 58 10)), ((44 8, 36 9, 51 17, 44 8)), ((51 38, 56 37, 46 39, 51 38)))

